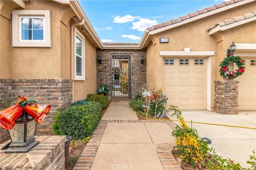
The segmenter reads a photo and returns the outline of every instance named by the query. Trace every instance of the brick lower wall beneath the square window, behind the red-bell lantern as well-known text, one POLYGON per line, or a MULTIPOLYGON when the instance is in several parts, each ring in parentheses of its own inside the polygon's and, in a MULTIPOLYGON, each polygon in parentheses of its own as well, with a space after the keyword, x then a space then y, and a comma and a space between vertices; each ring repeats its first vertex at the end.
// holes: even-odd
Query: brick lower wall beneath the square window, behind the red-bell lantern
MULTIPOLYGON (((52 135, 56 109, 63 109, 72 104, 72 88, 73 80, 68 79, 0 79, 0 94, 3 100, 1 107, 16 94, 34 98, 38 100, 38 104, 50 104, 50 112, 37 125, 36 135, 52 135)), ((8 132, 4 128, 0 129, 0 139, 1 141, 8 139, 8 132)))

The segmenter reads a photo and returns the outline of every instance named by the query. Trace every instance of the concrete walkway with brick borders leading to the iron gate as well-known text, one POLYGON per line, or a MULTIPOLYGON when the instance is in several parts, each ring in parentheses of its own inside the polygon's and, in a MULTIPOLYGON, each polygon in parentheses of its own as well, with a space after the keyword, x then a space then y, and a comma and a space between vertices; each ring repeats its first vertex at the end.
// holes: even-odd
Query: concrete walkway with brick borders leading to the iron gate
POLYGON ((74 170, 181 170, 170 149, 175 126, 170 121, 138 120, 127 102, 111 103, 74 170))

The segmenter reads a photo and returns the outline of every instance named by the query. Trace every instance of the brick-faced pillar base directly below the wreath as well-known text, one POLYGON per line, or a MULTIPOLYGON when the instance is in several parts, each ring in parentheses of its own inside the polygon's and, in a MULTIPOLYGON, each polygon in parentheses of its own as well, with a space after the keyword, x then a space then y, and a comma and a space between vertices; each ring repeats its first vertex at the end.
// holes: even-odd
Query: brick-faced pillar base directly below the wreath
POLYGON ((214 111, 221 114, 238 114, 239 81, 216 81, 214 111))

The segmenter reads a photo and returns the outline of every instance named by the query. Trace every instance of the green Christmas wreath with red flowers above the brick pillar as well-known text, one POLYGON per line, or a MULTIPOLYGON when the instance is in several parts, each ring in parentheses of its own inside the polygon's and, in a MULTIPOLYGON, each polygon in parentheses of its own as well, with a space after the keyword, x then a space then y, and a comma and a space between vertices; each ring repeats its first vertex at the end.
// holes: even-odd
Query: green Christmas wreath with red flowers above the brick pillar
POLYGON ((231 56, 228 55, 222 62, 220 62, 220 75, 226 79, 236 78, 241 76, 244 73, 244 60, 239 56, 231 56), (229 70, 228 64, 236 63, 238 69, 237 70, 229 70))

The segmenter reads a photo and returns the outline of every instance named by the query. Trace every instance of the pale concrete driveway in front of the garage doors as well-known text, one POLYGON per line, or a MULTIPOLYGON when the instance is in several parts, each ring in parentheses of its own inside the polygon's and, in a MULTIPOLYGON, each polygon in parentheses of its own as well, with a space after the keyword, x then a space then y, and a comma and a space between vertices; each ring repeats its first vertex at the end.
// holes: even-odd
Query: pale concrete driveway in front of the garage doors
MULTIPOLYGON (((171 115, 171 112, 167 114, 170 119, 176 119, 176 116, 171 115)), ((197 130, 200 137, 207 137, 212 141, 209 147, 213 147, 219 156, 230 158, 244 168, 251 167, 246 161, 249 160, 250 155, 253 155, 252 150, 256 150, 256 129, 241 127, 256 127, 256 111, 239 111, 237 115, 222 115, 212 111, 182 111, 182 117, 185 121, 189 121, 187 123, 189 127, 191 127, 191 119, 192 122, 240 126, 192 123, 192 128, 197 130)))

